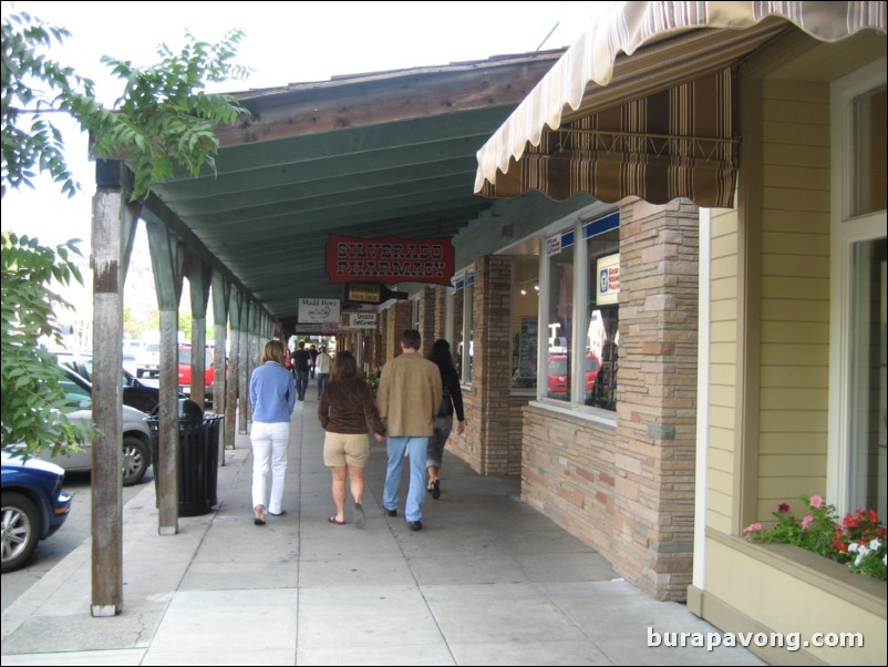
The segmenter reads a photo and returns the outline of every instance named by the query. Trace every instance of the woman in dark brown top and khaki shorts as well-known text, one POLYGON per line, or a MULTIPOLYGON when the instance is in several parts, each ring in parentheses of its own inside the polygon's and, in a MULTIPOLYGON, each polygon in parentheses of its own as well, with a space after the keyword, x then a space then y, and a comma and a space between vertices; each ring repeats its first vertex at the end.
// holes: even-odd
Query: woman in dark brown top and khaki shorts
MULTIPOLYGON (((323 350, 323 348, 322 348, 323 350)), ((320 360, 323 351, 318 356, 320 360)), ((320 372, 320 371, 319 371, 320 372)), ((337 513, 327 521, 345 523, 345 475, 354 501, 354 525, 364 527, 364 465, 370 455, 372 429, 378 442, 385 438, 370 386, 358 377, 358 362, 349 351, 337 355, 330 381, 324 383, 318 402, 318 420, 327 434, 323 438, 323 463, 333 476, 333 502, 337 513)))

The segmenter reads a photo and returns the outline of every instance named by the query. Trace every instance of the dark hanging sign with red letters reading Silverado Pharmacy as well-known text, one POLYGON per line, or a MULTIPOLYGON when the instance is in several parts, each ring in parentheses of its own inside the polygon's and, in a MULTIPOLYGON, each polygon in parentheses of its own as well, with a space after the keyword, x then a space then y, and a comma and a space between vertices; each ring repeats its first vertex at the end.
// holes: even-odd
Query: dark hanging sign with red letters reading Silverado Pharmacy
POLYGON ((453 243, 442 238, 354 238, 330 234, 326 269, 330 283, 436 283, 450 285, 453 243))

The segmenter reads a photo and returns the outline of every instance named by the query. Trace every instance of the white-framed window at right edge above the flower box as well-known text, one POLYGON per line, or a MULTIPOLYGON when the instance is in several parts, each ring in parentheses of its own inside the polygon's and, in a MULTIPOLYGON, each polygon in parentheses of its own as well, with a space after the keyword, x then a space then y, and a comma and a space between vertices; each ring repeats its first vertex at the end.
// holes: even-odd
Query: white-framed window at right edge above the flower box
POLYGON ((886 59, 832 90, 828 494, 886 515, 886 59))

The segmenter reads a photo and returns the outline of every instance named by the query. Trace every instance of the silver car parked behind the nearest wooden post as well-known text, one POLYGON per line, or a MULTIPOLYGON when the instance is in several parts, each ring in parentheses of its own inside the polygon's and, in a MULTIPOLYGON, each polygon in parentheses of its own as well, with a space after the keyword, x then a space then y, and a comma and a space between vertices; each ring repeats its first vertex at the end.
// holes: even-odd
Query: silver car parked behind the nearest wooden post
MULTIPOLYGON (((75 373, 66 366, 66 378, 62 381, 65 390, 65 406, 74 410, 68 413, 68 419, 72 421, 92 421, 92 387, 90 382, 75 373)), ((145 418, 147 414, 130 406, 123 406, 123 484, 131 486, 138 484, 145 476, 152 461, 151 430, 145 418)), ((78 451, 59 453, 50 456, 47 453, 45 460, 61 465, 64 470, 92 470, 92 445, 86 443, 78 451)))

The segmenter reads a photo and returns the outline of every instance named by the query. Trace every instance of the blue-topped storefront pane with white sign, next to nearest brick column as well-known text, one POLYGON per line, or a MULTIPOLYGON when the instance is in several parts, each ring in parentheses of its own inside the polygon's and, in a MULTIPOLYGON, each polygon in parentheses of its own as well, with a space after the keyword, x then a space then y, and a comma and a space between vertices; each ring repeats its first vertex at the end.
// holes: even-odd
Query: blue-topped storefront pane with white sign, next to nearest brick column
POLYGON ((585 341, 584 403, 605 410, 617 407, 619 362, 620 217, 613 213, 586 223, 588 321, 585 341))

